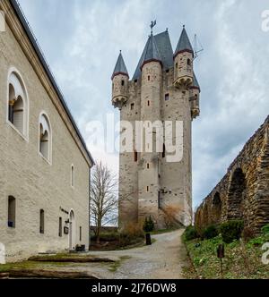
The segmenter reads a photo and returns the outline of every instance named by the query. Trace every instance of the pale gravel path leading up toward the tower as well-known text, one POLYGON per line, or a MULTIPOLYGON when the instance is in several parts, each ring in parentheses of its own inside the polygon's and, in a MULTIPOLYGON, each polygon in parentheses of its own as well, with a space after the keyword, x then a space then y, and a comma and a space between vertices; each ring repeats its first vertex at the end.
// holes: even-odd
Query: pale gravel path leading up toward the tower
POLYGON ((132 250, 91 251, 90 255, 116 259, 117 264, 83 267, 102 279, 179 279, 182 267, 189 265, 187 250, 181 241, 183 230, 154 235, 156 242, 132 250))

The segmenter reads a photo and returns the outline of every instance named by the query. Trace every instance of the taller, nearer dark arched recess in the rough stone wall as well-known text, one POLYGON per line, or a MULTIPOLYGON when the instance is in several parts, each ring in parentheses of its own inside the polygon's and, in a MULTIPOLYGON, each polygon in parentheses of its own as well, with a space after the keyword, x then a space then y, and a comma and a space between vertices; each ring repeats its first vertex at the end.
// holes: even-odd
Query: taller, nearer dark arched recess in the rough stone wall
POLYGON ((228 220, 243 219, 243 201, 246 196, 246 177, 241 168, 232 174, 228 191, 228 220))

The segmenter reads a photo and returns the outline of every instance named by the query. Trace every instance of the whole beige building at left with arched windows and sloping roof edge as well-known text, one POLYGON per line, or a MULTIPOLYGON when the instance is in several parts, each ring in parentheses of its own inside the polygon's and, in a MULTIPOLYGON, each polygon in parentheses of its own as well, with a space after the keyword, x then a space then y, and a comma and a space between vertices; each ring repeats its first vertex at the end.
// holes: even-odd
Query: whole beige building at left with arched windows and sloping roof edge
MULTIPOLYGON (((19 4, 1 0, 0 242, 5 261, 89 247, 94 164, 19 4)), ((3 261, 3 255, 2 255, 3 261)))

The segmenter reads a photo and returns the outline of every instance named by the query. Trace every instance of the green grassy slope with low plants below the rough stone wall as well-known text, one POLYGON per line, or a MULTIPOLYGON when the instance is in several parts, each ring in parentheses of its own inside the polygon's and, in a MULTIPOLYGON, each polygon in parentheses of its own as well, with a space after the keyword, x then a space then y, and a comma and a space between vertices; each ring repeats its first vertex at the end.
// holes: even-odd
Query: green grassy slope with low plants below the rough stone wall
POLYGON ((269 265, 262 263, 262 245, 269 242, 269 235, 258 237, 250 242, 235 241, 225 244, 223 276, 217 248, 223 243, 221 236, 211 240, 193 240, 186 242, 189 256, 196 273, 185 271, 187 278, 204 279, 268 279, 269 265), (198 275, 198 276, 197 276, 198 275))

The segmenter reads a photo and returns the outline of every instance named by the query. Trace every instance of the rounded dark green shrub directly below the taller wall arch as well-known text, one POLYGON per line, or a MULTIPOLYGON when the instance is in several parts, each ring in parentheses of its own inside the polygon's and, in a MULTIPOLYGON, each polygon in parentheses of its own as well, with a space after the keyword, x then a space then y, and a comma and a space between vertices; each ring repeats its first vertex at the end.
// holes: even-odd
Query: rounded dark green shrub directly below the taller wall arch
POLYGON ((244 229, 244 222, 240 220, 229 221, 221 225, 223 242, 230 243, 239 240, 244 229))

